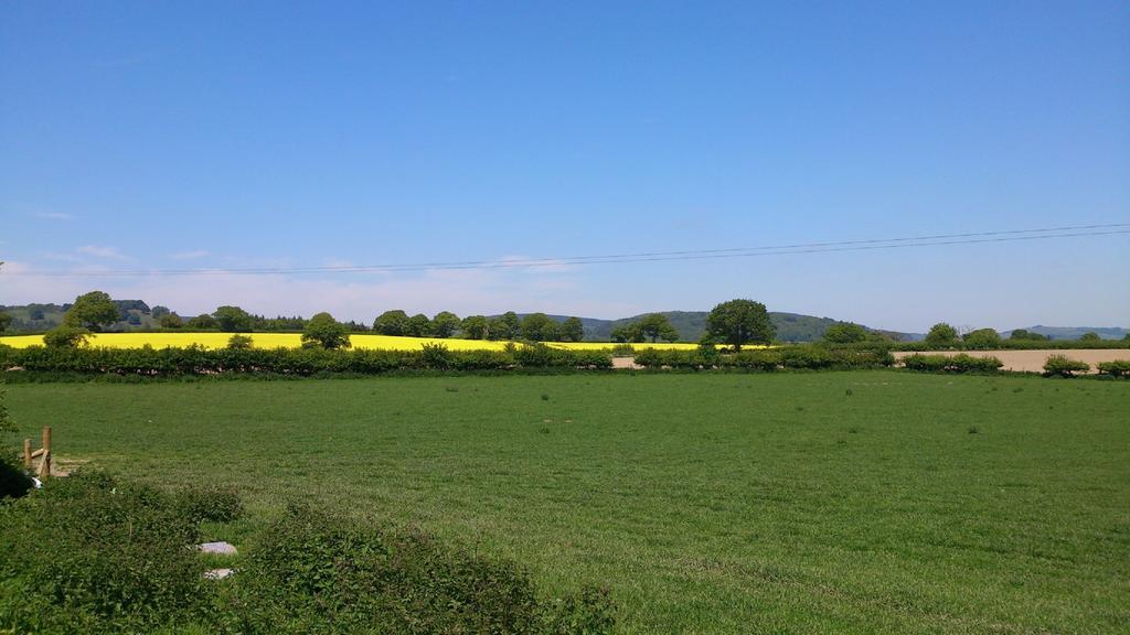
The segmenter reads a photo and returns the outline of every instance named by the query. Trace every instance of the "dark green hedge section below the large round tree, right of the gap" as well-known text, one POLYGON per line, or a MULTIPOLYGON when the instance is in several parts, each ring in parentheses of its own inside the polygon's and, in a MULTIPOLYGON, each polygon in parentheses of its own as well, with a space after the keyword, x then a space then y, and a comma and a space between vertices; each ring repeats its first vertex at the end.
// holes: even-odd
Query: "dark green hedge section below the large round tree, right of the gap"
POLYGON ((742 369, 773 372, 883 368, 895 363, 889 351, 878 348, 833 349, 822 346, 786 346, 764 350, 718 354, 710 350, 644 349, 635 363, 646 368, 742 369))

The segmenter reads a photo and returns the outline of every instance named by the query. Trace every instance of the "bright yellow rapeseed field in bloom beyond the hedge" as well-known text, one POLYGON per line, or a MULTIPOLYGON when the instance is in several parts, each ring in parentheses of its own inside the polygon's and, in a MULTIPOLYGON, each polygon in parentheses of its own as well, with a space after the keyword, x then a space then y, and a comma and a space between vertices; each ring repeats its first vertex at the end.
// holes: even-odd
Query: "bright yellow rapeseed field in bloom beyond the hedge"
MULTIPOLYGON (((244 333, 251 337, 252 346, 255 348, 297 348, 302 346, 299 333, 244 333)), ((89 337, 89 345, 107 348, 141 348, 146 345, 154 348, 186 347, 200 345, 206 348, 224 348, 232 333, 95 333, 89 337)), ((450 350, 502 350, 505 348, 504 341, 487 340, 463 340, 463 339, 438 339, 438 338, 406 338, 395 336, 374 334, 351 334, 349 341, 354 348, 384 349, 384 350, 418 350, 425 343, 442 343, 450 350)), ((42 346, 43 336, 9 336, 0 338, 0 343, 15 348, 26 348, 28 346, 42 346)), ((600 350, 611 348, 608 342, 581 341, 581 342, 547 342, 555 348, 567 348, 573 350, 600 350)), ((659 349, 694 349, 694 343, 634 343, 636 349, 659 348, 659 349)))

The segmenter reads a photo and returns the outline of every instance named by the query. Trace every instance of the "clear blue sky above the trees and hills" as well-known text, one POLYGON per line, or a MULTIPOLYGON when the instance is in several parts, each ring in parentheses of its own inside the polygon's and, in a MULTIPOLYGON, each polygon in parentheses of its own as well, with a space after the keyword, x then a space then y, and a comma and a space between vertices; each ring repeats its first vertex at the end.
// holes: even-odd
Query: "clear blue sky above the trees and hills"
POLYGON ((922 331, 1130 325, 1130 234, 379 273, 1130 223, 1125 2, 7 2, 0 304, 922 331), (43 276, 81 272, 88 277, 43 276))

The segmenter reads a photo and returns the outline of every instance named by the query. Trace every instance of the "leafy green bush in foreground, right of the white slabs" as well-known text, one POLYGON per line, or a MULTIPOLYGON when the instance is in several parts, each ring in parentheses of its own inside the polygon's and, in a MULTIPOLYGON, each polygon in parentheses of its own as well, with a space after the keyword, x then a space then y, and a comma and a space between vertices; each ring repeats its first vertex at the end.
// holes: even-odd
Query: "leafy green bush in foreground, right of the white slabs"
POLYGON ((515 565, 290 505, 220 597, 235 633, 610 633, 607 593, 539 601, 515 565))

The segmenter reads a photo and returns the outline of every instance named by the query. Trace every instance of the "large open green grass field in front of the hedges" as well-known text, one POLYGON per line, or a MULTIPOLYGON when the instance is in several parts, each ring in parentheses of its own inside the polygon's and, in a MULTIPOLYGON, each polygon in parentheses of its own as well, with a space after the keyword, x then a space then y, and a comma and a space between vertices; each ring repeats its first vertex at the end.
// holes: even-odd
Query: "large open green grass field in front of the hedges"
POLYGON ((1130 384, 902 372, 16 384, 56 455, 414 523, 625 633, 1130 632, 1130 384))

